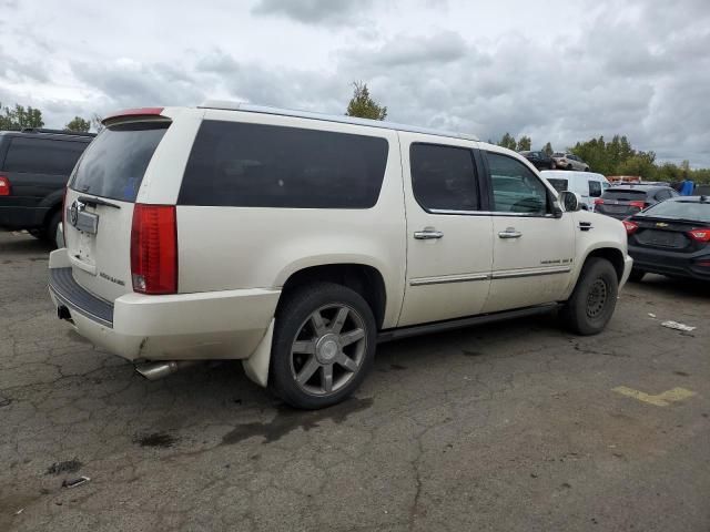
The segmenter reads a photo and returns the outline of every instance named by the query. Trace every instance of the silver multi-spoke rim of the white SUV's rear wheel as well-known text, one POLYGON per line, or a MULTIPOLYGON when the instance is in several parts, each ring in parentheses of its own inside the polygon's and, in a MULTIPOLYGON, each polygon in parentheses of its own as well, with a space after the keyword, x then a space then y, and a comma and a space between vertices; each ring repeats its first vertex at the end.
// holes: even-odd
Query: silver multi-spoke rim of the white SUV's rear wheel
POLYGON ((291 375, 306 393, 337 393, 359 371, 366 348, 365 320, 357 310, 325 305, 301 324, 293 339, 291 375))

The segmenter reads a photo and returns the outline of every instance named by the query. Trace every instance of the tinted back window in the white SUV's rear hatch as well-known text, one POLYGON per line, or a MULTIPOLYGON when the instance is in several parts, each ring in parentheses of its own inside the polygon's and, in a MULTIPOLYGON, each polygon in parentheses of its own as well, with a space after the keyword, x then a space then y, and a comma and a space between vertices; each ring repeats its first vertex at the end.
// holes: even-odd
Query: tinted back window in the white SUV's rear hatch
POLYGON ((134 202, 143 174, 170 122, 111 125, 79 162, 71 188, 94 196, 134 202))

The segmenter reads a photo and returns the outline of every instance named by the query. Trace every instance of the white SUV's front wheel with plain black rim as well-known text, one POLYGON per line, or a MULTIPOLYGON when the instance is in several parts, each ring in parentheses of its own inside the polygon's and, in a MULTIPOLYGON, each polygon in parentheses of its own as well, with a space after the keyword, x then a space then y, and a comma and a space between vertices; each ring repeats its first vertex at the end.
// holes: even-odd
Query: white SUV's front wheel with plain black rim
POLYGON ((605 258, 591 257, 582 267, 571 297, 560 318, 572 332, 597 335, 607 326, 617 305, 617 272, 605 258))

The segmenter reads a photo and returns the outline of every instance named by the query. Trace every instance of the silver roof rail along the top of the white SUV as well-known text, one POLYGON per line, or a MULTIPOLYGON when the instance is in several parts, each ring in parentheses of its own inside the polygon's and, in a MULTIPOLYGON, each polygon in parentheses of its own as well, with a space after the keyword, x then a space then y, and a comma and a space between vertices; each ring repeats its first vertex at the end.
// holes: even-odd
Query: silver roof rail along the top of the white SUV
POLYGON ((385 122, 381 120, 358 119, 339 114, 324 114, 312 111, 296 111, 292 109, 271 108, 267 105, 254 105, 245 102, 227 102, 222 100, 207 100, 197 105, 197 109, 214 109, 223 111, 243 111, 247 113, 277 114, 281 116, 294 116, 300 119, 323 120, 325 122, 337 122, 341 124, 367 125, 369 127, 381 127, 384 130, 407 131, 412 133, 424 133, 427 135, 450 136, 454 139, 463 139, 467 141, 479 141, 476 135, 467 133, 455 133, 449 131, 439 131, 428 127, 419 127, 416 125, 397 124, 394 122, 385 122))

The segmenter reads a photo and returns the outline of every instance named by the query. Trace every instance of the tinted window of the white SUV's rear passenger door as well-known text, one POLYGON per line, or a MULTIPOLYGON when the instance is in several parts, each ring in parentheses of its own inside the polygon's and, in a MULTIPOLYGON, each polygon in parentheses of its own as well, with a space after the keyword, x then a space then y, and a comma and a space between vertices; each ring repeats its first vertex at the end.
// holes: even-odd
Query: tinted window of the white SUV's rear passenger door
POLYGON ((412 188, 425 209, 476 211, 474 156, 465 147, 412 144, 412 188))

